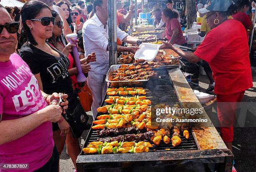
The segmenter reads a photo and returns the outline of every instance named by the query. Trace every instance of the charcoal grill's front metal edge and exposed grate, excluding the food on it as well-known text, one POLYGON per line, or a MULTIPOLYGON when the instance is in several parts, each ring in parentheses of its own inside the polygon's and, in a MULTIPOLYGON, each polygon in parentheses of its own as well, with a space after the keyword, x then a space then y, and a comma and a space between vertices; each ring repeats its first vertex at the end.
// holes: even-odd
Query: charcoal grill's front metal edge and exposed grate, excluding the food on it
MULTIPOLYGON (((158 71, 158 77, 152 78, 146 82, 143 85, 143 88, 146 88, 147 99, 155 104, 164 103, 165 105, 170 106, 177 103, 180 104, 177 90, 175 89, 173 82, 170 79, 169 71, 167 70, 158 71)), ((108 99, 108 97, 108 95, 105 95, 105 99, 108 99)), ((103 101, 101 106, 104 105, 107 105, 107 103, 103 101)), ((98 113, 97 115, 103 114, 105 113, 98 113)), ((97 135, 96 130, 91 129, 84 147, 100 137, 112 136, 99 136, 97 135)), ((190 167, 190 170, 193 169, 192 171, 201 171, 203 168, 205 169, 209 163, 213 163, 213 165, 215 163, 218 164, 213 167, 214 169, 217 169, 217 171, 230 170, 230 167, 227 167, 227 165, 232 164, 233 156, 228 149, 200 150, 198 141, 191 129, 189 129, 189 139, 186 140, 183 136, 181 136, 181 139, 182 144, 177 147, 173 147, 171 144, 166 145, 161 142, 159 146, 153 146, 149 152, 144 153, 85 155, 81 152, 81 155, 77 158, 77 171, 113 172, 139 170, 148 172, 176 171, 175 169, 177 168, 179 169, 178 171, 180 171, 180 169, 189 171, 187 167, 190 167), (184 164, 187 164, 188 166, 184 166, 184 164)))

